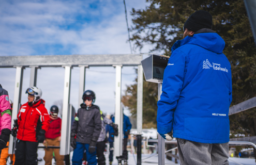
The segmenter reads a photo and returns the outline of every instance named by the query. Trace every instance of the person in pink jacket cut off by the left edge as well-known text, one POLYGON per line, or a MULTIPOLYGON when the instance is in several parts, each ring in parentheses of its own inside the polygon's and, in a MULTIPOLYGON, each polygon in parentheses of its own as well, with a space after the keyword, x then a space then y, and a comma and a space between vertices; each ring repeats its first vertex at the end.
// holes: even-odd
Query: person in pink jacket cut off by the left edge
POLYGON ((8 92, 0 84, 0 154, 6 147, 11 134, 11 105, 8 92))

